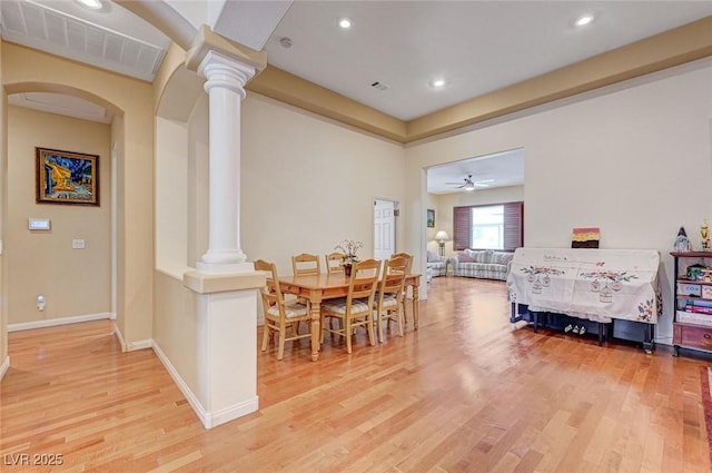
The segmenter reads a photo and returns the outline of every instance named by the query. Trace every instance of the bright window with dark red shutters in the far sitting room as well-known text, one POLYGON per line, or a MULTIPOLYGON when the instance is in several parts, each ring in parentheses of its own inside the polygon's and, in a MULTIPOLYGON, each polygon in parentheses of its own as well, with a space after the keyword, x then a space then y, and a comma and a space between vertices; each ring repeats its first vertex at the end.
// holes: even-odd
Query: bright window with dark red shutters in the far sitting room
POLYGON ((453 246, 514 250, 524 243, 524 203, 455 207, 453 246))

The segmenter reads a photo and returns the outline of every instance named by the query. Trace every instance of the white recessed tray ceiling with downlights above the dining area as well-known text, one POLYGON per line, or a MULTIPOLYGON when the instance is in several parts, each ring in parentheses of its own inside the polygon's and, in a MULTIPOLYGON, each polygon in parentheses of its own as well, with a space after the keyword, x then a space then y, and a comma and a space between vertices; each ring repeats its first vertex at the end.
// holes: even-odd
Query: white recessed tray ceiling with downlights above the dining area
POLYGON ((411 120, 710 14, 712 1, 295 1, 266 50, 280 69, 411 120), (577 28, 583 13, 595 19, 577 28))

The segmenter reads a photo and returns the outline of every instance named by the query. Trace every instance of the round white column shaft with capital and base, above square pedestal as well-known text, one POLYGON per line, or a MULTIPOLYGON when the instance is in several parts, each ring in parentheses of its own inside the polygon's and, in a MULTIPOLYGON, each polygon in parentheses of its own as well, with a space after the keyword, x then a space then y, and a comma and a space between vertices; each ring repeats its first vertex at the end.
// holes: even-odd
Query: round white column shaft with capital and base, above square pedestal
POLYGON ((208 51, 198 73, 209 96, 208 250, 196 268, 206 274, 254 270, 240 248, 240 106, 253 66, 208 51))

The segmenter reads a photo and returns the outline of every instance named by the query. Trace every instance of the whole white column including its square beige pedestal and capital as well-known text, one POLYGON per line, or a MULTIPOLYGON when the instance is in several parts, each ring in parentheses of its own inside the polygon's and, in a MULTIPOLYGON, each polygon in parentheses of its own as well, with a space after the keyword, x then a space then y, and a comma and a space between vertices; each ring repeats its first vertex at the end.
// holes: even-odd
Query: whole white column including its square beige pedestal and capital
POLYGON ((204 47, 192 51, 195 59, 205 51, 197 71, 207 79, 209 104, 208 249, 184 274, 184 286, 195 294, 196 316, 196 386, 188 400, 211 428, 259 408, 256 289, 265 275, 240 248, 240 105, 256 68, 204 47))

